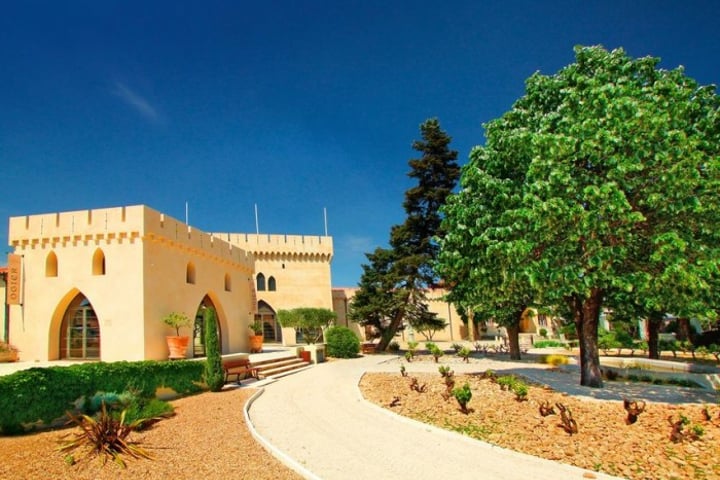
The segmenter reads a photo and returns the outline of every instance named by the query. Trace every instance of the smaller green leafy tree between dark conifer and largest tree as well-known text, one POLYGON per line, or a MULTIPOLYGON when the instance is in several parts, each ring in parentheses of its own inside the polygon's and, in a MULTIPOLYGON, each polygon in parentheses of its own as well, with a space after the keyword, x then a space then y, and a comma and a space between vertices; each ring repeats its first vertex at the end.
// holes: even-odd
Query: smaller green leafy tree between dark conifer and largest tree
POLYGON ((493 320, 508 332, 510 355, 520 359, 520 320, 535 292, 522 268, 532 254, 525 225, 514 210, 522 204, 530 151, 528 116, 518 102, 486 128, 486 144, 463 167, 460 192, 443 207, 446 235, 439 239, 437 271, 451 286, 447 300, 474 319, 493 320))

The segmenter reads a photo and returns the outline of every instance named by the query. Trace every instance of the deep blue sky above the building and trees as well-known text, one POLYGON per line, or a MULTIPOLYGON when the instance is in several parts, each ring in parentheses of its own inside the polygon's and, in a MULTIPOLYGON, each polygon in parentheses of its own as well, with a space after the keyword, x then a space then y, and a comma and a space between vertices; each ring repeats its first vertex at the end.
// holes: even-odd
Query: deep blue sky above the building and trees
MULTIPOLYGON (((720 81, 716 1, 21 1, 0 10, 7 218, 146 204, 204 231, 334 237, 334 286, 404 220, 437 117, 459 161, 574 45, 720 81)), ((10 250, 6 247, 6 251, 10 250)), ((4 256, 0 260, 4 262, 4 256)))

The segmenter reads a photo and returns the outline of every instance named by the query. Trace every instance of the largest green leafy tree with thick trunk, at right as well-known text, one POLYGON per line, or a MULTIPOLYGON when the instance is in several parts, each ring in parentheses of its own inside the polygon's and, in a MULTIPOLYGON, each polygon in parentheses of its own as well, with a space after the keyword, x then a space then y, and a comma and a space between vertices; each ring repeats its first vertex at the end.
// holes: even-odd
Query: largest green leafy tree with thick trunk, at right
POLYGON ((531 76, 494 124, 505 132, 487 155, 524 181, 519 203, 488 230, 501 263, 522 259, 513 274, 574 321, 581 384, 600 387, 604 301, 624 297, 648 316, 714 307, 720 114, 714 87, 656 58, 575 54, 558 73, 531 76))

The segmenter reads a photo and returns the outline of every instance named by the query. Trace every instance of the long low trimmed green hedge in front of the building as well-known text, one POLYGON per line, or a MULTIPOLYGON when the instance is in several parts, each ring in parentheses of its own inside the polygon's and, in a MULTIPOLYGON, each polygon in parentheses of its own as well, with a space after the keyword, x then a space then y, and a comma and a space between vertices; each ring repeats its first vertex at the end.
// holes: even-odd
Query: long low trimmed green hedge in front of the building
POLYGON ((196 361, 93 362, 0 376, 0 434, 50 425, 97 392, 153 398, 167 387, 180 395, 196 393, 203 389, 203 368, 196 361))

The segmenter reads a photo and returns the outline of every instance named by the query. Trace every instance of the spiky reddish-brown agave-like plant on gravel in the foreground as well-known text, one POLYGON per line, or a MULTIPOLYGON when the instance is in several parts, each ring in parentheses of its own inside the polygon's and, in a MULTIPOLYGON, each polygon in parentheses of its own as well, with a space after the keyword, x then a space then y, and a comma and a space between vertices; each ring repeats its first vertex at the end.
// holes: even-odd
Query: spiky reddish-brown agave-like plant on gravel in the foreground
POLYGON ((68 423, 75 424, 80 427, 80 432, 72 435, 74 438, 65 441, 58 448, 62 453, 69 453, 78 448, 89 448, 88 455, 97 454, 102 456, 103 463, 108 458, 112 458, 121 467, 125 468, 125 461, 122 456, 127 455, 132 458, 152 459, 152 455, 146 450, 137 446, 135 442, 129 440, 129 435, 146 424, 149 419, 138 419, 130 423, 125 423, 125 413, 123 410, 119 418, 113 418, 108 414, 105 403, 103 402, 101 410, 97 418, 89 415, 73 415, 67 412, 70 420, 68 423))

